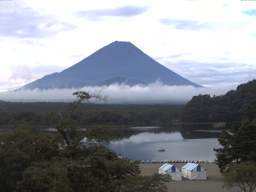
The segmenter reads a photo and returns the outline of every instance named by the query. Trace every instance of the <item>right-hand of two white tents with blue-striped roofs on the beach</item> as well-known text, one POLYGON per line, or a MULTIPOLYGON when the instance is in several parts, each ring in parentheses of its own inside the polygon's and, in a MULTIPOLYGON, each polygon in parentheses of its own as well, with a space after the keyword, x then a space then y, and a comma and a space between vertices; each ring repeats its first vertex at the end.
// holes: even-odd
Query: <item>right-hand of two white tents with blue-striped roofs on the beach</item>
POLYGON ((182 177, 189 180, 206 180, 208 175, 205 168, 195 163, 187 163, 181 168, 182 177))

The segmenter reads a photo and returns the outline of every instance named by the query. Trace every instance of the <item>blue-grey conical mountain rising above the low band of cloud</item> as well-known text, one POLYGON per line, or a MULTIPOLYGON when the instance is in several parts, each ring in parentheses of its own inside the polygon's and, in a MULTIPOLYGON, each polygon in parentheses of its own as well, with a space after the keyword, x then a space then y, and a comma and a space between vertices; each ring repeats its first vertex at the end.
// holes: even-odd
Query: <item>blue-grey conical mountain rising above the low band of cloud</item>
POLYGON ((123 77, 146 83, 157 79, 167 85, 200 85, 159 64, 130 42, 115 41, 60 73, 46 75, 22 88, 79 88, 123 77))

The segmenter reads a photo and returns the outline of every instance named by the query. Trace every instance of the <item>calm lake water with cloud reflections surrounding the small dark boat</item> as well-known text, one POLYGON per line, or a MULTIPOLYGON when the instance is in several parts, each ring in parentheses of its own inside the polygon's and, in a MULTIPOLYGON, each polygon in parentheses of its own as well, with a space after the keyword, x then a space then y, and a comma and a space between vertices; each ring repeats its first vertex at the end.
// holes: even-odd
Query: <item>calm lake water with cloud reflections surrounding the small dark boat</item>
POLYGON ((133 160, 214 160, 220 130, 211 126, 136 127, 117 129, 110 148, 133 160), (159 149, 165 152, 159 152, 159 149))

